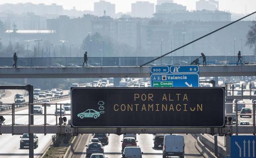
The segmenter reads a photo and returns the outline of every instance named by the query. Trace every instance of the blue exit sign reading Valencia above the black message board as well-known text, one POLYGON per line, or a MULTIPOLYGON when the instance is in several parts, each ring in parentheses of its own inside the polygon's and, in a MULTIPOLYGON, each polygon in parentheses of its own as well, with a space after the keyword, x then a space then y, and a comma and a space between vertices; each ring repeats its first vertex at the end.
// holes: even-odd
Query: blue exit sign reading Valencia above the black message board
POLYGON ((150 80, 151 87, 199 87, 199 67, 197 65, 152 66, 150 80))

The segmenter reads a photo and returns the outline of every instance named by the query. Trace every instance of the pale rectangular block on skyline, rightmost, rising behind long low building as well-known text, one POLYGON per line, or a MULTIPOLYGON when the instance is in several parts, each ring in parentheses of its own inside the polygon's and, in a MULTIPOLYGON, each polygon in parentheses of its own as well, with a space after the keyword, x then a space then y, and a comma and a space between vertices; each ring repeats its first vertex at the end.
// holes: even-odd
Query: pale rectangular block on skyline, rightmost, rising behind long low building
POLYGON ((196 2, 196 10, 219 10, 219 2, 216 0, 199 0, 196 2))

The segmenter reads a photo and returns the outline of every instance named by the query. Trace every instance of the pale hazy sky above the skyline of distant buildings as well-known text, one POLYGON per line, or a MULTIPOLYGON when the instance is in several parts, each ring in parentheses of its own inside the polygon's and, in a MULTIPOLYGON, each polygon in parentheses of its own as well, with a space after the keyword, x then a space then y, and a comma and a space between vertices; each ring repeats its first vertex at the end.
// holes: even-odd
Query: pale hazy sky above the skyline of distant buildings
MULTIPOLYGON (((58 5, 63 5, 65 9, 71 9, 73 6, 78 10, 93 10, 93 3, 99 0, 0 0, 0 4, 4 3, 24 3, 32 2, 35 4, 45 3, 50 5, 51 3, 57 3, 58 5)), ((142 0, 106 0, 111 3, 115 3, 116 12, 127 12, 131 11, 131 3, 142 0)), ((157 3, 157 0, 143 0, 152 3, 157 3)), ((182 5, 186 5, 187 9, 195 10, 196 1, 198 0, 174 0, 174 2, 182 5)), ((218 0, 220 10, 228 10, 235 13, 251 13, 256 11, 256 0, 218 0), (247 9, 246 9, 247 8, 247 9)))

